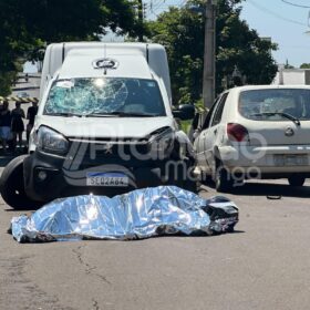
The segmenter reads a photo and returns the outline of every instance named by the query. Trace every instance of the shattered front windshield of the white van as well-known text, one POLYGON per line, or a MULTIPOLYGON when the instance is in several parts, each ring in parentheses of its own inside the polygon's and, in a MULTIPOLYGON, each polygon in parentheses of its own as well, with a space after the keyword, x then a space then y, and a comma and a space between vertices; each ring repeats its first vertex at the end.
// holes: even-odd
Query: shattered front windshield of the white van
POLYGON ((164 116, 157 82, 142 79, 97 78, 55 81, 45 115, 164 116))

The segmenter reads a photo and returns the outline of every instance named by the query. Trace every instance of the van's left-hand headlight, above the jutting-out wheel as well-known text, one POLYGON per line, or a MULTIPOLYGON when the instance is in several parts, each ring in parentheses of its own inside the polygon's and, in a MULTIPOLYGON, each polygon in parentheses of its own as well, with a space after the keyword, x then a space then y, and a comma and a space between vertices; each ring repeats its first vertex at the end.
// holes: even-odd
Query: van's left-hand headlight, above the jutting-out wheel
POLYGON ((62 134, 45 126, 41 126, 34 134, 34 144, 40 151, 61 155, 69 149, 69 141, 62 134))

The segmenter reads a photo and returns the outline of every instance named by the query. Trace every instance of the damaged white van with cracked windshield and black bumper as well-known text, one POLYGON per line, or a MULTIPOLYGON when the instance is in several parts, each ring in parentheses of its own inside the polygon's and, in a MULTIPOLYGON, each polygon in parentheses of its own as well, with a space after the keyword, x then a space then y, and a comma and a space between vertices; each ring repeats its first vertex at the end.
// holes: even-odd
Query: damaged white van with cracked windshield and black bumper
POLYGON ((193 189, 192 145, 172 110, 167 56, 158 44, 56 43, 46 49, 29 155, 0 179, 14 208, 80 195, 175 184, 193 189))

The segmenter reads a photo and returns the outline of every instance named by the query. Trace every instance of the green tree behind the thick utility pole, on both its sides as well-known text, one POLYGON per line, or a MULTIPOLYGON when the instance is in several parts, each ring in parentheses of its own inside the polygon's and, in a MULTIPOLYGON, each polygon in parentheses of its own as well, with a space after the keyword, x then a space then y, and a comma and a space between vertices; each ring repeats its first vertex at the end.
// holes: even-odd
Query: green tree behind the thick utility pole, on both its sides
MULTIPOLYGON (((269 84, 277 72, 271 51, 277 45, 259 38, 240 20, 241 0, 217 1, 216 84, 231 78, 235 66, 250 84, 269 84)), ((190 0, 184 8, 169 8, 148 23, 153 42, 167 49, 174 103, 196 102, 202 97, 204 65, 205 1, 190 0), (195 12, 193 10, 195 8, 195 12), (197 13, 197 12, 202 13, 197 13)))

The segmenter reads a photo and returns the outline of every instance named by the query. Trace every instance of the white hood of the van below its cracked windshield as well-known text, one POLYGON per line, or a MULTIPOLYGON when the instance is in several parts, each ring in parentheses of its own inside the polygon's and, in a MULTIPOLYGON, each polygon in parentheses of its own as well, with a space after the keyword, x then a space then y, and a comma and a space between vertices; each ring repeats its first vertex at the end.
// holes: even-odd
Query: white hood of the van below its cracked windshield
POLYGON ((60 117, 38 115, 34 127, 48 126, 68 138, 142 138, 169 126, 176 130, 172 116, 161 117, 60 117))

